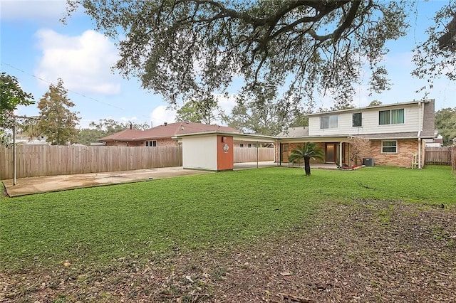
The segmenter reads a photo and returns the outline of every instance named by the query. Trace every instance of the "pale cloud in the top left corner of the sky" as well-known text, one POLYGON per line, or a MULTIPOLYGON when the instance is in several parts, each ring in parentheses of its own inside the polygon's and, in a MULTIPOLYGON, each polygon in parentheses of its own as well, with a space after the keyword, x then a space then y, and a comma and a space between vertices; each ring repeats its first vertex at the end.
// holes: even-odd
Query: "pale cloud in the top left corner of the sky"
POLYGON ((3 21, 58 22, 65 12, 64 0, 0 0, 0 16, 3 21))

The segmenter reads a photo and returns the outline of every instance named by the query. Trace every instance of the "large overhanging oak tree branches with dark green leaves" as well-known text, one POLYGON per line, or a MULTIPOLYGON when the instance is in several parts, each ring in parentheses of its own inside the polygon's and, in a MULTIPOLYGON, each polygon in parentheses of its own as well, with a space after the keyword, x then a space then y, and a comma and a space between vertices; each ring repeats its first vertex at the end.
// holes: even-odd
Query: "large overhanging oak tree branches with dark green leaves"
MULTIPOLYGON (((331 92, 336 103, 350 100, 361 64, 371 68, 372 90, 388 88, 385 43, 405 35, 414 3, 68 0, 68 11, 83 6, 98 30, 118 42, 116 68, 172 105, 200 90, 222 92, 241 77, 245 87, 286 87, 284 102, 293 106, 316 91, 331 92)), ((444 10, 454 6, 450 1, 444 10)), ((432 45, 438 31, 449 30, 434 31, 432 45)))

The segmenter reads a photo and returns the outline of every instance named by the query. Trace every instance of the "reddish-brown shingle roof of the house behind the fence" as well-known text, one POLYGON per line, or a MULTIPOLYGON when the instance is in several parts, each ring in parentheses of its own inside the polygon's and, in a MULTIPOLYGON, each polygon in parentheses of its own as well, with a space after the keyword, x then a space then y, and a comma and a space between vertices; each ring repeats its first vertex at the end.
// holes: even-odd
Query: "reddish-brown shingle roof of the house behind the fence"
POLYGON ((232 127, 215 124, 202 124, 192 122, 165 123, 147 130, 125 129, 122 132, 112 134, 98 141, 142 141, 148 139, 171 138, 180 134, 194 134, 199 132, 234 132, 241 133, 232 127))

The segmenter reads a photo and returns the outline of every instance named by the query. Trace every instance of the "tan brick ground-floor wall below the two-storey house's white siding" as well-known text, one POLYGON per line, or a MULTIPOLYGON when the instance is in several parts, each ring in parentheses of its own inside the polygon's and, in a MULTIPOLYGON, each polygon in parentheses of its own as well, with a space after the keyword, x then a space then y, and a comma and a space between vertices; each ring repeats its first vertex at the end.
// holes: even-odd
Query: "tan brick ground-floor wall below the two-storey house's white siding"
MULTIPOLYGON (((397 142, 398 152, 385 154, 382 153, 382 140, 371 140, 370 146, 361 157, 373 158, 374 165, 411 167, 413 154, 418 154, 418 139, 398 139, 397 142)), ((421 156, 423 163, 424 152, 421 156)))

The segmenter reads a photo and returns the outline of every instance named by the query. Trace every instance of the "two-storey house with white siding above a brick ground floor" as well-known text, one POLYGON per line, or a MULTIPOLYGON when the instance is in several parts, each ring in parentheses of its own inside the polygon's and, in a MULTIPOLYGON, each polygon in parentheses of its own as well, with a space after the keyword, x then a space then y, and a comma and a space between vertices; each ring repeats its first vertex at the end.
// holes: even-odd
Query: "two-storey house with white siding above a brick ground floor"
POLYGON ((425 139, 434 138, 434 100, 378 105, 307 115, 309 127, 294 127, 279 134, 275 160, 288 162, 292 149, 314 142, 325 163, 351 165, 354 137, 369 140, 363 159, 375 165, 424 166, 425 139), (415 156, 415 158, 414 158, 415 156))

